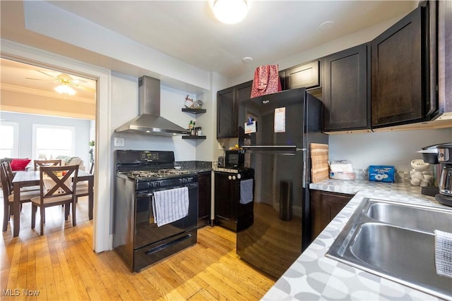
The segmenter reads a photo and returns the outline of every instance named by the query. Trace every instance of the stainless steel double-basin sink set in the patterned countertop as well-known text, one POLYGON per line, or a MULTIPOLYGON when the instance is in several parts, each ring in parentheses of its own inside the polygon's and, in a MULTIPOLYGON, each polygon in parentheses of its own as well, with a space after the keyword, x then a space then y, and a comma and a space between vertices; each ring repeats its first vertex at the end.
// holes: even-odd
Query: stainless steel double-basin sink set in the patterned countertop
POLYGON ((452 232, 452 210, 363 199, 326 256, 452 299, 452 278, 436 274, 436 229, 452 232))

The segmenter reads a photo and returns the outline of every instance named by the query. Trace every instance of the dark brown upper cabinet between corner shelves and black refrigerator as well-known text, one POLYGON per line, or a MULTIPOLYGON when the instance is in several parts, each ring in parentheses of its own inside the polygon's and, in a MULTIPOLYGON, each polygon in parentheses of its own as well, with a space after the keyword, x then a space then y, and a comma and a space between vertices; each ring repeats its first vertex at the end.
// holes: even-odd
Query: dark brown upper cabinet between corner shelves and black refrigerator
POLYGON ((237 135, 237 104, 251 97, 253 81, 244 82, 217 92, 217 138, 237 135))

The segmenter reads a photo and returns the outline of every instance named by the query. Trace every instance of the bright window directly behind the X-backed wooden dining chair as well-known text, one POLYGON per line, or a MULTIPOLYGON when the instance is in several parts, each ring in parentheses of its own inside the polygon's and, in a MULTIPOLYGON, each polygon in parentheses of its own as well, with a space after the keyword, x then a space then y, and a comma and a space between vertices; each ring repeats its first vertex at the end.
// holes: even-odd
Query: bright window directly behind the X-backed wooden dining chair
POLYGON ((75 147, 76 128, 62 125, 33 125, 34 159, 55 159, 72 156, 75 147))

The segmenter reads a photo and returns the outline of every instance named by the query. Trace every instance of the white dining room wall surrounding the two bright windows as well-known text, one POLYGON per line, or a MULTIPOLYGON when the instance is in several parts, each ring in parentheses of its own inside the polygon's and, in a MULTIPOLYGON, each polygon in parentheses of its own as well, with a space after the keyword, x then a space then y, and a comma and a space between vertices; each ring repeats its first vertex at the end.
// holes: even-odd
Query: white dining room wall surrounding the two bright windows
POLYGON ((83 160, 85 169, 89 171, 90 168, 90 123, 91 121, 76 118, 61 118, 54 116, 43 116, 25 113, 13 113, 2 111, 0 113, 1 119, 4 121, 12 121, 18 123, 19 131, 19 158, 37 159, 32 154, 33 144, 33 124, 45 125, 64 125, 73 126, 76 128, 76 145, 73 156, 79 156, 83 160))

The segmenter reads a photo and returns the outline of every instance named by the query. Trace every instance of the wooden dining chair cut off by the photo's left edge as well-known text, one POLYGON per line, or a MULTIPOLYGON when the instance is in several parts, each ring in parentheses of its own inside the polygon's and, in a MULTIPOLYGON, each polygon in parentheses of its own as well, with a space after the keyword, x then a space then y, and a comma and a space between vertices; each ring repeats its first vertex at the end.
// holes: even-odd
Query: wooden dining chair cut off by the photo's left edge
MULTIPOLYGON (((13 201, 14 195, 13 190, 11 189, 10 183, 8 183, 8 174, 6 173, 6 169, 4 168, 4 164, 0 164, 0 180, 1 180, 1 190, 3 190, 3 227, 2 231, 5 232, 8 229, 8 221, 13 214, 13 201)), ((20 191, 20 205, 25 202, 30 202, 32 197, 39 196, 39 190, 31 190, 31 191, 20 191)), ((18 216, 17 219, 20 219, 18 216)))

